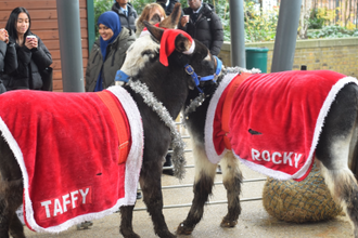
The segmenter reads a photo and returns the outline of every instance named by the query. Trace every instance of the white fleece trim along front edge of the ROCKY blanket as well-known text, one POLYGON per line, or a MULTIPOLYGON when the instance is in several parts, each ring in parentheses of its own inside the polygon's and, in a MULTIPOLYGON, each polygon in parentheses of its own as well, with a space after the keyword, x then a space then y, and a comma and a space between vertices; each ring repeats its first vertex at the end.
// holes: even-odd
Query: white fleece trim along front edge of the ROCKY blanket
POLYGON ((228 151, 227 148, 223 149, 222 154, 218 155, 216 153, 214 142, 213 142, 213 132, 214 132, 214 118, 215 118, 215 111, 216 107, 219 103, 219 100, 222 95, 222 92, 226 90, 226 88, 229 85, 231 80, 235 78, 238 74, 227 74, 222 81, 220 82, 219 87, 215 91, 213 98, 210 100, 209 106, 207 108, 206 113, 206 120, 205 120, 205 130, 204 130, 204 136, 205 136, 205 151, 207 155, 208 160, 212 163, 218 163, 226 151, 228 151))

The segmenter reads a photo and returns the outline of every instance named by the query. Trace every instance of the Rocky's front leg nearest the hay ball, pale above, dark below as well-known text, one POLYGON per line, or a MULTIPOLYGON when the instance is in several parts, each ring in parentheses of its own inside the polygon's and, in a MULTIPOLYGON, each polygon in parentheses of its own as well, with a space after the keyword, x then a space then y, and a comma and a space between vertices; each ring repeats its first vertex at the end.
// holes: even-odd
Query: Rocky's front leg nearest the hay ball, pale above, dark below
POLYGON ((221 159, 222 182, 228 196, 228 214, 223 216, 222 227, 234 227, 241 213, 240 193, 242 184, 242 173, 239 168, 239 160, 233 154, 227 153, 221 159))

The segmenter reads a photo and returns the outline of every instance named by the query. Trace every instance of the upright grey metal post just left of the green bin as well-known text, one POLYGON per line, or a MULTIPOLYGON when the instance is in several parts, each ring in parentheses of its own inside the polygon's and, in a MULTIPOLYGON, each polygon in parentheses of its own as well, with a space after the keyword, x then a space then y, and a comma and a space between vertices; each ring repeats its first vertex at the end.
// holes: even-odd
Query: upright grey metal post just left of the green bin
POLYGON ((245 26, 242 0, 230 0, 231 65, 246 68, 245 26))

